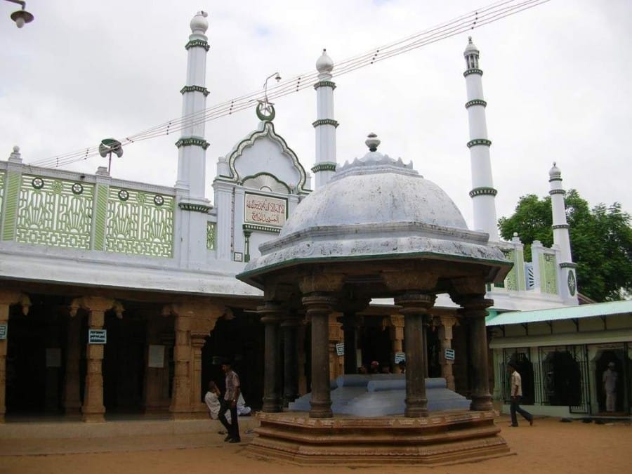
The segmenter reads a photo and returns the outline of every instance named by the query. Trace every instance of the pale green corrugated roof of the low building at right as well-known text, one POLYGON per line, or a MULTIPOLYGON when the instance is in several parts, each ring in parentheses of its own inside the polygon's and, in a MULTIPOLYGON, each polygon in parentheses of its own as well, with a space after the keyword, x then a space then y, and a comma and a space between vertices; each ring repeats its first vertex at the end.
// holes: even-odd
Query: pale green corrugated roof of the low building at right
MULTIPOLYGON (((564 306, 548 310, 510 311, 489 314, 485 318, 487 326, 502 324, 523 324, 525 322, 541 322, 555 320, 574 320, 581 317, 621 315, 632 313, 632 301, 608 301, 590 305, 564 306)), ((491 313, 491 312, 490 312, 491 313)))

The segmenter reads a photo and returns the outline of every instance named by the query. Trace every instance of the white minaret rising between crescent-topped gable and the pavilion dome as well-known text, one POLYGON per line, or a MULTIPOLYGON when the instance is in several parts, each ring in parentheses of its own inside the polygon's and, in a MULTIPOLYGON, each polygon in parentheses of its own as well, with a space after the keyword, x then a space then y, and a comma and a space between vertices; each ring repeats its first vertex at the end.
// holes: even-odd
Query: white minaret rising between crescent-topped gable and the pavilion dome
POLYGON ((322 50, 322 55, 316 61, 318 82, 316 89, 316 117, 312 124, 316 129, 316 159, 312 168, 314 173, 314 189, 325 184, 336 171, 336 127, 334 120, 334 89, 336 84, 331 81, 331 71, 334 61, 322 50))

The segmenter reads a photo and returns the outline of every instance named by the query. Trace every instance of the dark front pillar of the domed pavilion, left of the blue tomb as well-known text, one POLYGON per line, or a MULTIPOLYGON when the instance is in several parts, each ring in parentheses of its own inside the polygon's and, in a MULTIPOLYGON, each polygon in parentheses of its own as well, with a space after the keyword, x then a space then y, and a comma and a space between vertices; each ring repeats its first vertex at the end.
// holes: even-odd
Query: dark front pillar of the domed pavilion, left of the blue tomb
POLYGON ((312 400, 310 418, 331 418, 329 386, 329 314, 334 296, 313 292, 303 296, 305 312, 312 324, 312 400))

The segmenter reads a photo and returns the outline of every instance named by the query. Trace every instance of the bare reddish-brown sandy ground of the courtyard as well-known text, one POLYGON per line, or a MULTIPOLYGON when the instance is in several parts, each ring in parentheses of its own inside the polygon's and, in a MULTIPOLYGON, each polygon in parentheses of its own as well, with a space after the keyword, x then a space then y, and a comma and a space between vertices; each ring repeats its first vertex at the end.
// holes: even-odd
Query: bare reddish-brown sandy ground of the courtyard
POLYGON ((127 437, 103 440, 39 441, 39 446, 11 447, 0 440, 0 473, 20 474, 408 474, 408 473, 630 473, 632 425, 630 423, 561 423, 536 419, 511 428, 507 416, 498 420, 502 435, 514 455, 454 466, 294 466, 253 459, 244 449, 253 435, 242 435, 242 444, 223 442, 222 435, 127 437), (177 439, 176 439, 177 438, 177 439), (48 443, 46 445, 46 443, 48 443), (104 443, 107 443, 104 444, 104 443), (185 447, 188 446, 188 447, 185 447), (74 454, 35 454, 62 451, 74 454), (105 452, 100 452, 105 451, 105 452), (15 453, 20 453, 15 455, 15 453))

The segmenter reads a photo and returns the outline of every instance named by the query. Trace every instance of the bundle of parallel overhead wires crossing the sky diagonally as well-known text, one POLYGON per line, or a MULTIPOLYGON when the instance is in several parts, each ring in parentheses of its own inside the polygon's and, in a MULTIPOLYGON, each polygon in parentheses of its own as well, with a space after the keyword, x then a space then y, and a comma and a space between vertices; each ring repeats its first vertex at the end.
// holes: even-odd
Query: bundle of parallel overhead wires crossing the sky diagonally
MULTIPOLYGON (((358 70, 361 67, 367 67, 376 62, 393 58, 397 55, 420 48, 421 46, 433 44, 437 41, 441 41, 442 39, 466 32, 470 29, 489 25, 492 22, 502 20, 503 18, 515 15, 516 13, 520 13, 521 11, 525 11, 529 8, 545 4, 548 1, 550 0, 498 1, 495 4, 479 8, 478 10, 466 13, 447 22, 443 22, 435 27, 412 34, 409 37, 399 39, 384 46, 373 48, 366 53, 342 60, 341 62, 336 62, 334 64, 334 75, 335 77, 339 77, 343 74, 348 74, 349 72, 358 70)), ((291 93, 297 93, 305 88, 312 87, 315 84, 315 81, 317 81, 318 75, 319 72, 308 72, 294 76, 286 81, 281 81, 278 84, 274 84, 268 88, 267 93, 265 94, 265 99, 275 100, 291 93)), ((211 107, 204 110, 199 110, 192 114, 178 117, 177 119, 171 119, 145 131, 126 136, 120 140, 121 145, 126 146, 138 141, 170 135, 172 133, 182 131, 183 129, 198 126, 207 121, 241 112, 242 110, 251 108, 258 100, 263 98, 262 96, 262 91, 258 90, 246 93, 243 96, 232 98, 223 103, 211 105, 211 107)), ((75 150, 74 152, 58 154, 55 155, 55 157, 32 162, 30 165, 58 167, 65 164, 71 164, 97 156, 99 154, 98 148, 98 146, 84 147, 79 150, 75 150)))

